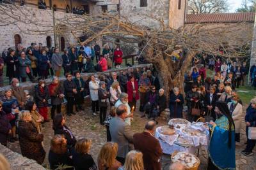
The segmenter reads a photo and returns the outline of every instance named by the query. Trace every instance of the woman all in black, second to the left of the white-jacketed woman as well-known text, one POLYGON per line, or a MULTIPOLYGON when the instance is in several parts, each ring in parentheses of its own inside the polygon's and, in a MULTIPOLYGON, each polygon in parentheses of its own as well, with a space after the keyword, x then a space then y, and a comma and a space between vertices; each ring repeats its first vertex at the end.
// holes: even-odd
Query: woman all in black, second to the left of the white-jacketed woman
POLYGON ((73 106, 75 102, 75 95, 77 94, 76 83, 72 81, 72 74, 66 73, 66 80, 63 82, 65 99, 67 100, 67 115, 71 116, 71 114, 76 115, 73 112, 73 106))

